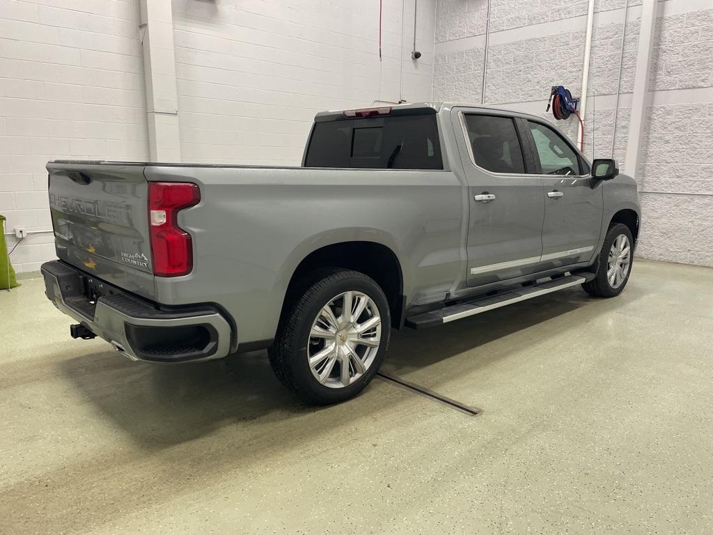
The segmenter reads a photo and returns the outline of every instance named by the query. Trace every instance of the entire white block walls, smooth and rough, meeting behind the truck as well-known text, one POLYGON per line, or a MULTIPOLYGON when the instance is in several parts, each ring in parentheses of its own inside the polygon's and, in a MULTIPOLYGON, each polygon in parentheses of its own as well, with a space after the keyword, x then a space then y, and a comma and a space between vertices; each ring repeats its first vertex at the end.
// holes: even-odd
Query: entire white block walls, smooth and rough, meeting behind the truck
MULTIPOLYGON (((596 4, 588 154, 608 156, 612 144, 624 1, 596 4)), ((622 167, 640 0, 628 3, 614 143, 622 167)), ((418 62, 410 60, 414 3, 406 0, 405 21, 402 5, 384 0, 379 62, 376 2, 173 0, 183 161, 296 164, 316 111, 426 100, 431 91, 436 99, 480 101, 486 0, 420 1, 418 62)), ((713 197, 693 195, 713 193, 713 9, 706 0, 662 6, 640 189, 676 195, 642 194, 640 253, 713 265, 713 197), (665 245, 671 241, 679 245, 665 245)), ((576 94, 586 9, 586 0, 492 0, 486 102, 544 114, 554 83, 576 94)), ((50 228, 46 161, 148 158, 139 21, 138 0, 0 0, 7 230, 50 228)), ((575 135, 573 120, 558 126, 575 135)), ((29 271, 52 257, 51 233, 33 233, 12 260, 29 271)))

